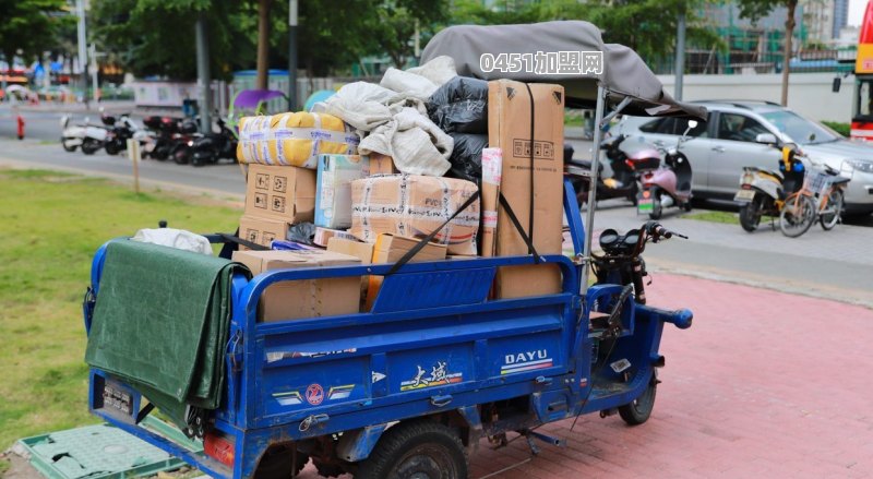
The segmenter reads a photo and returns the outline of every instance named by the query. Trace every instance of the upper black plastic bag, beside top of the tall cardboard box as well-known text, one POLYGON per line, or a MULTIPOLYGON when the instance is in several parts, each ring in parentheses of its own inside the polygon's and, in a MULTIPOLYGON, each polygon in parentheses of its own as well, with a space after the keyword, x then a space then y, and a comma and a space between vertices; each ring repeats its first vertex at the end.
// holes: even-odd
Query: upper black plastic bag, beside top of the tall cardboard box
POLYGON ((488 82, 455 76, 428 99, 428 116, 446 133, 488 133, 488 82))

